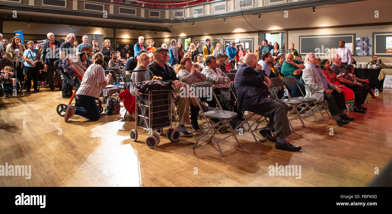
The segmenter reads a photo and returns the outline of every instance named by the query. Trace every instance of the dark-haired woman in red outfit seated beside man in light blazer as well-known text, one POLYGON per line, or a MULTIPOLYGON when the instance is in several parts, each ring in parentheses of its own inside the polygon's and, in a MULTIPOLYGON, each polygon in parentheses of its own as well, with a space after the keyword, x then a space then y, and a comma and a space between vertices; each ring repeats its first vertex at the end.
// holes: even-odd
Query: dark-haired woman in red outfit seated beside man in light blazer
POLYGON ((333 70, 330 69, 331 63, 328 59, 323 59, 320 61, 320 68, 323 69, 323 72, 327 79, 334 84, 335 86, 339 87, 343 94, 344 98, 346 100, 346 104, 354 104, 354 91, 351 90, 350 88, 345 87, 345 85, 342 85, 339 83, 338 78, 336 77, 336 74, 333 70))

